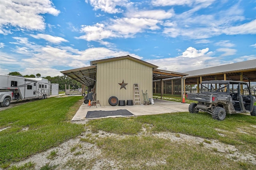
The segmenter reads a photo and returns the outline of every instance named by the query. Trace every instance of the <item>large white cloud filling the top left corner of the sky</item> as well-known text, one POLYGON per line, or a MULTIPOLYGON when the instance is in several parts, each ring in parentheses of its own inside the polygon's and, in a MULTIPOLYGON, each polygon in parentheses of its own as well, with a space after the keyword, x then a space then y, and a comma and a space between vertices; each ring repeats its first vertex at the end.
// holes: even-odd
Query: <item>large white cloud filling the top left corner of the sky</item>
POLYGON ((0 34, 10 34, 11 26, 28 30, 44 30, 46 24, 40 14, 57 16, 60 11, 50 0, 3 0, 0 5, 0 34))

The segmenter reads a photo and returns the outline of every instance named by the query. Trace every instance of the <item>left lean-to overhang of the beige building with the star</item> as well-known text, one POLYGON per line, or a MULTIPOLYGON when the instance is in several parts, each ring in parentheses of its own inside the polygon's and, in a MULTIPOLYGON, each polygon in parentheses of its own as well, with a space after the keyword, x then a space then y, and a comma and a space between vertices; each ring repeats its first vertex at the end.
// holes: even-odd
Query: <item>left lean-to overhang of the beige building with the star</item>
POLYGON ((93 87, 96 82, 96 66, 76 68, 61 73, 88 87, 93 87))

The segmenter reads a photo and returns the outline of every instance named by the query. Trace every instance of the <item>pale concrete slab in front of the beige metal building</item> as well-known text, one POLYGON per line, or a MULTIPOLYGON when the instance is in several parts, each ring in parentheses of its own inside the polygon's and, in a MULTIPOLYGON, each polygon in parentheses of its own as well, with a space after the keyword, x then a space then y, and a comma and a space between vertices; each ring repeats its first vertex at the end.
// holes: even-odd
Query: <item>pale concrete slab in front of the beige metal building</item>
MULTIPOLYGON (((140 116, 140 115, 150 115, 150 114, 188 112, 188 106, 189 104, 187 103, 172 102, 172 101, 160 100, 160 99, 154 99, 154 104, 150 104, 150 105, 141 104, 141 105, 135 105, 135 106, 100 106, 100 104, 97 104, 97 108, 96 106, 90 107, 88 106, 88 104, 83 103, 71 121, 86 120, 85 117, 87 112, 93 111, 93 110, 111 111, 111 110, 126 109, 132 114, 134 114, 134 116, 140 116)), ((118 117, 118 116, 111 116, 111 117, 118 117)))

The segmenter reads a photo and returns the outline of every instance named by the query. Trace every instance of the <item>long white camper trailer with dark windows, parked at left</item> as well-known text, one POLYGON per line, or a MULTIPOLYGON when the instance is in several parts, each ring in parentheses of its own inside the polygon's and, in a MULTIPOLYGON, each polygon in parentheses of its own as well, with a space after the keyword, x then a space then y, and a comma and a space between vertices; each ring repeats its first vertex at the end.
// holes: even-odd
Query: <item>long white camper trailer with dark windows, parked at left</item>
POLYGON ((13 100, 46 98, 50 96, 50 82, 45 78, 24 78, 0 74, 0 90, 11 90, 13 100))

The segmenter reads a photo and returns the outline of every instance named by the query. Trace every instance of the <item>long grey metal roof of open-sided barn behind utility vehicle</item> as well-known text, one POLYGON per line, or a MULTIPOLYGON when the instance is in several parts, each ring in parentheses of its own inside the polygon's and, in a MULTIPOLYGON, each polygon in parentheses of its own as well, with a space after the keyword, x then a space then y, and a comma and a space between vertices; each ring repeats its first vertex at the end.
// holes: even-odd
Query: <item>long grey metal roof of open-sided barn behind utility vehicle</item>
POLYGON ((224 74, 226 74, 226 80, 237 81, 240 80, 241 72, 243 81, 256 81, 256 60, 248 60, 185 72, 189 74, 186 76, 186 83, 196 84, 197 78, 200 76, 202 76, 202 81, 215 79, 224 80, 224 74))

